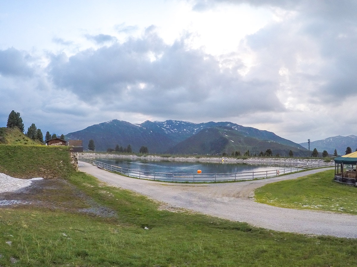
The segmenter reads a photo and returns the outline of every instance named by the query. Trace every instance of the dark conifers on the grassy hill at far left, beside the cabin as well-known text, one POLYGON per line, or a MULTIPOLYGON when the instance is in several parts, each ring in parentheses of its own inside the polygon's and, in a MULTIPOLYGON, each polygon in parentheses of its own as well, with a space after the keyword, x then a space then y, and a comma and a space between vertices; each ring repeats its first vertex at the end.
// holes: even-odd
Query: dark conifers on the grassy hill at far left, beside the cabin
MULTIPOLYGON (((12 110, 10 112, 9 117, 7 118, 6 127, 7 128, 17 127, 18 129, 20 129, 21 132, 25 131, 25 126, 24 126, 24 123, 22 121, 22 118, 21 118, 21 115, 19 112, 15 112, 14 110, 12 110)), ((46 135, 45 135, 45 140, 44 140, 44 136, 42 134, 41 129, 37 129, 37 127, 34 123, 31 124, 31 126, 27 128, 27 132, 25 132, 25 135, 27 137, 31 138, 32 140, 35 140, 35 141, 37 140, 41 143, 46 143, 48 140, 57 137, 56 133, 51 135, 50 132, 47 131, 46 135)), ((62 134, 59 138, 64 140, 65 136, 62 134)))

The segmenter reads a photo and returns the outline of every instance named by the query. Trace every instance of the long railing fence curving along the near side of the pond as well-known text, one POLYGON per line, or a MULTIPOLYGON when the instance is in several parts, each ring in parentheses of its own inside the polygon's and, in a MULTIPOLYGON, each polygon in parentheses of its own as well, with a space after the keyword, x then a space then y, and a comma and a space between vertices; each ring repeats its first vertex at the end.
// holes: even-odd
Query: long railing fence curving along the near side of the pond
POLYGON ((276 177, 281 174, 287 174, 292 172, 303 171, 307 169, 331 167, 334 166, 333 162, 316 163, 310 165, 301 165, 295 167, 288 167, 270 171, 258 171, 258 172, 240 172, 240 173, 165 173, 165 172, 149 172, 132 170, 127 168, 110 165, 104 162, 96 161, 90 158, 79 158, 79 161, 91 163, 94 166, 106 169, 107 171, 117 172, 126 176, 147 179, 158 180, 166 182, 229 182, 239 180, 254 180, 276 177))

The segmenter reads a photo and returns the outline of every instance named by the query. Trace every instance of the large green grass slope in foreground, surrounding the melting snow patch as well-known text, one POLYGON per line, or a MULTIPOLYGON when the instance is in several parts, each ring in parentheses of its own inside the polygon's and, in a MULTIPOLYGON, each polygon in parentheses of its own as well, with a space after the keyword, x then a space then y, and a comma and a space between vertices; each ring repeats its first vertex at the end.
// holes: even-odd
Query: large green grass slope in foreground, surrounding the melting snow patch
POLYGON ((146 197, 72 171, 61 148, 43 148, 48 151, 0 145, 0 158, 7 158, 0 163, 1 172, 25 177, 26 170, 12 162, 25 161, 36 176, 42 169, 59 176, 49 180, 51 187, 32 196, 46 205, 1 206, 0 266, 357 265, 355 239, 275 232, 160 210, 159 203, 146 197), (60 170, 49 167, 57 164, 60 170), (115 216, 82 211, 94 204, 115 216))

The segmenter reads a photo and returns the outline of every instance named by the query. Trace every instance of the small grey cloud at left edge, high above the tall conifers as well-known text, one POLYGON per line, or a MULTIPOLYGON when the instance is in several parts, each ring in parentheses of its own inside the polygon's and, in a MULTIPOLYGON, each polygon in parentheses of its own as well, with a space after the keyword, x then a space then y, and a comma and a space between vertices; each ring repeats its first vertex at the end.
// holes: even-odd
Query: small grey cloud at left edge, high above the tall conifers
POLYGON ((0 74, 30 76, 34 73, 30 66, 31 61, 29 54, 15 48, 0 50, 0 74))

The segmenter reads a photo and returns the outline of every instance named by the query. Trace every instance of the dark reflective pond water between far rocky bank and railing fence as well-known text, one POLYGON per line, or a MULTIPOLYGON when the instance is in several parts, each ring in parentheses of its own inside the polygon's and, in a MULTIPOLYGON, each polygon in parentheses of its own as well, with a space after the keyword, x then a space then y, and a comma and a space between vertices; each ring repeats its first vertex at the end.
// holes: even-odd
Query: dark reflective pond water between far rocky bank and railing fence
POLYGON ((251 165, 245 163, 206 163, 206 162, 181 162, 181 161, 148 161, 143 159, 104 159, 97 158, 110 165, 119 166, 122 168, 147 171, 147 172, 163 172, 163 173, 196 173, 201 170, 202 173, 242 173, 242 172, 260 172, 279 169, 276 166, 251 165))

